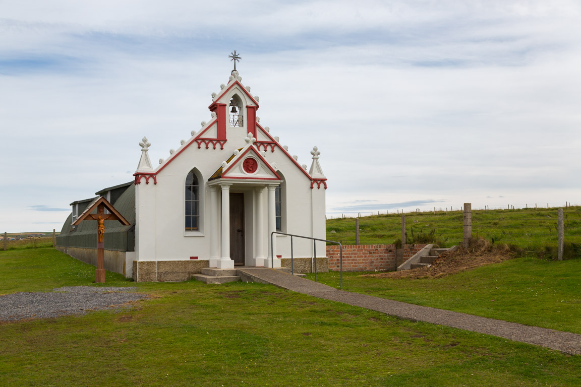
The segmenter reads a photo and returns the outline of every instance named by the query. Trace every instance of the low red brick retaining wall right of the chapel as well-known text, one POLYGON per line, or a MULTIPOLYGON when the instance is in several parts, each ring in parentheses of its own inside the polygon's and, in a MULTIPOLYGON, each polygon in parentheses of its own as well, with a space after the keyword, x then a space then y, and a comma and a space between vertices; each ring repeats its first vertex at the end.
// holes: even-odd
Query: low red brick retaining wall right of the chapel
MULTIPOLYGON (((425 244, 406 245, 404 259, 411 258, 424 248, 425 244)), ((339 246, 327 246, 329 270, 339 271, 339 246)), ((390 272, 397 269, 396 245, 344 245, 343 271, 344 272, 390 272)))

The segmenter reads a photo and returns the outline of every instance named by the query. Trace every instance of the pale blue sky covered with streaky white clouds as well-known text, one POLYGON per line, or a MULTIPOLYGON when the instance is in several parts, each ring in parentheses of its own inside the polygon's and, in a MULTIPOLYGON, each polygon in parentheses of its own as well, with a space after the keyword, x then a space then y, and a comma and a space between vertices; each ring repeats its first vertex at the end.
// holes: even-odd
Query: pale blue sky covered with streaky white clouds
POLYGON ((232 50, 327 216, 581 204, 578 0, 0 0, 0 232, 167 158, 232 50))

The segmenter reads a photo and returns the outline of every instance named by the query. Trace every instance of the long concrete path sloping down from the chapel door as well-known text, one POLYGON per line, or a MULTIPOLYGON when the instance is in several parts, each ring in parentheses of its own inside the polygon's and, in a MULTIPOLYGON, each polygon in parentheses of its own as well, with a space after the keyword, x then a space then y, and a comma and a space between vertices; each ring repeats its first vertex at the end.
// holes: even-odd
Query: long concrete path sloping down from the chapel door
POLYGON ((365 294, 336 290, 324 284, 282 273, 279 270, 256 268, 241 269, 239 272, 241 272, 243 281, 272 284, 279 288, 318 298, 376 310, 400 319, 447 325, 448 327, 494 335, 512 341, 540 345, 571 355, 581 355, 581 335, 575 333, 531 327, 503 320, 472 316, 472 314, 450 312, 450 310, 429 308, 428 306, 413 305, 365 294))

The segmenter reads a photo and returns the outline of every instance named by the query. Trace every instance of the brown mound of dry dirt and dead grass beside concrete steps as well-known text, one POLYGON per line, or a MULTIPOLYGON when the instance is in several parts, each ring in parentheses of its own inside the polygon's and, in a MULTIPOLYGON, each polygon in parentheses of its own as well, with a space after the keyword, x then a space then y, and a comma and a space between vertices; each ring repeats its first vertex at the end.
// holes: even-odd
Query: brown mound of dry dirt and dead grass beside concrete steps
POLYGON ((381 278, 439 278, 472 270, 490 263, 499 263, 514 258, 515 253, 507 245, 493 245, 484 239, 473 240, 469 248, 445 252, 434 260, 432 266, 418 267, 401 272, 363 274, 363 277, 381 278))

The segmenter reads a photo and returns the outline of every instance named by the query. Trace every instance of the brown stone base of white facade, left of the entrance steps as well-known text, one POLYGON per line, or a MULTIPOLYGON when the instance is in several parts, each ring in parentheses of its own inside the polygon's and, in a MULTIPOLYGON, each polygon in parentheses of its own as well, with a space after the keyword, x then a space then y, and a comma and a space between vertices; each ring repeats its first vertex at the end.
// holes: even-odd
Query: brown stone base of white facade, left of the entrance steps
POLYGON ((207 260, 133 261, 133 280, 136 282, 187 281, 192 274, 208 267, 207 260))

